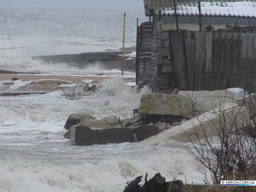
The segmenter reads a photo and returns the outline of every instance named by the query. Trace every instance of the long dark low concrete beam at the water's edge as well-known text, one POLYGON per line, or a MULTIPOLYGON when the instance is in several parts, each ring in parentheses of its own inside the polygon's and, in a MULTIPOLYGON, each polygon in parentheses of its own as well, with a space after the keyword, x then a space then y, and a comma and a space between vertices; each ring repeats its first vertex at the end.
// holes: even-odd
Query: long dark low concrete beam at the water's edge
POLYGON ((70 140, 72 145, 133 143, 154 136, 157 131, 158 128, 155 125, 111 129, 97 129, 76 125, 70 128, 70 140))

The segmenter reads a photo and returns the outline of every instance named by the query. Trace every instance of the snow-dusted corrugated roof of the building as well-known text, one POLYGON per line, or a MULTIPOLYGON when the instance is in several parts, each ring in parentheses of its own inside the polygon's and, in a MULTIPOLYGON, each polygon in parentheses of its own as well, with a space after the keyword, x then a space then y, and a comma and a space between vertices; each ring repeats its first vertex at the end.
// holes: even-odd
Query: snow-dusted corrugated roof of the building
MULTIPOLYGON (((176 0, 177 14, 198 16, 199 0, 176 0)), ((173 0, 144 0, 146 16, 175 15, 173 0)), ((202 16, 256 18, 256 0, 202 0, 202 16)))

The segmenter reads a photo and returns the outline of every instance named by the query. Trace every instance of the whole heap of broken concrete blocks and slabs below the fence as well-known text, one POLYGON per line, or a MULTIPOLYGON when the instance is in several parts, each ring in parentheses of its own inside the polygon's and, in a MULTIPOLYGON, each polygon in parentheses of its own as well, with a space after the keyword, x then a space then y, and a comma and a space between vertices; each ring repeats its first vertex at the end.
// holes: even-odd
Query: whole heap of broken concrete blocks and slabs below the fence
MULTIPOLYGON (((243 104, 246 92, 179 92, 177 95, 152 93, 141 96, 138 114, 120 120, 116 116, 95 120, 87 116, 68 118, 72 145, 130 142, 132 145, 157 145, 166 140, 194 142, 216 134, 218 124, 235 123, 244 128, 249 118, 243 104), (71 123, 72 122, 72 123, 71 123), (204 131, 202 131, 204 129, 204 131)), ((66 128, 66 129, 67 129, 66 128)))

